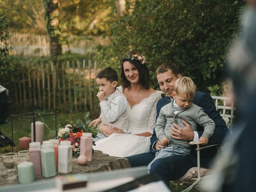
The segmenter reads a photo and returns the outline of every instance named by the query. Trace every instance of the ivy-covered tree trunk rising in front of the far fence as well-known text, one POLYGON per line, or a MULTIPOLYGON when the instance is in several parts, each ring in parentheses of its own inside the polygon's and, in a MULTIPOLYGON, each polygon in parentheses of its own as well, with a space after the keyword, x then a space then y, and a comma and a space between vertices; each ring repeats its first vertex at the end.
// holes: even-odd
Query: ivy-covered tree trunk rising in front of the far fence
POLYGON ((59 0, 44 0, 44 18, 46 20, 46 28, 50 39, 50 53, 53 58, 62 54, 60 42, 59 0))

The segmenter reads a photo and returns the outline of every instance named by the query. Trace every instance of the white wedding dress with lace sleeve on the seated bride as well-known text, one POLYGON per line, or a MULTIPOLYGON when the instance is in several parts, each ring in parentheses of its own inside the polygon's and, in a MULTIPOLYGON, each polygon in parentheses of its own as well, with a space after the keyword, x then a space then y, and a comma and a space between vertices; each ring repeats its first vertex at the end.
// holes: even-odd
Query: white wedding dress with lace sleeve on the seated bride
POLYGON ((132 106, 132 108, 128 103, 129 126, 127 129, 131 134, 111 134, 107 138, 98 140, 95 143, 96 146, 93 146, 94 150, 101 150, 105 154, 117 157, 149 152, 151 136, 144 137, 135 134, 153 133, 156 122, 156 104, 161 98, 160 93, 154 92, 148 98, 141 100, 139 104, 132 106))

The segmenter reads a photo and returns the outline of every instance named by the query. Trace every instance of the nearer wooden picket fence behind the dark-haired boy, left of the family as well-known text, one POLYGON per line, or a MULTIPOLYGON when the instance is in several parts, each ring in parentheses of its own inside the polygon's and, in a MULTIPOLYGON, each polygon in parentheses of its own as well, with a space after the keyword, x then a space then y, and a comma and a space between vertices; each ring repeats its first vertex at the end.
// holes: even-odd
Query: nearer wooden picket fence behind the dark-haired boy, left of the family
POLYGON ((8 88, 12 106, 44 111, 90 110, 98 106, 96 74, 99 70, 97 62, 91 60, 23 63, 8 88))

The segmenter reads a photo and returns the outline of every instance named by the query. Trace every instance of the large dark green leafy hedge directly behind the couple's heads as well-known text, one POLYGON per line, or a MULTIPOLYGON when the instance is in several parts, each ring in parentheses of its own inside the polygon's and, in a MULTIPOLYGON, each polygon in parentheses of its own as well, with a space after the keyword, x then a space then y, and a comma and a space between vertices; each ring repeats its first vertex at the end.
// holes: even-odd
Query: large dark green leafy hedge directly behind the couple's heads
MULTIPOLYGON (((128 2, 128 1, 126 1, 128 2)), ((238 31, 245 2, 230 0, 137 0, 132 10, 110 30, 109 46, 98 46, 96 58, 102 66, 119 69, 123 54, 133 50, 146 56, 158 88, 156 68, 174 62, 201 91, 220 84, 228 46, 238 31)))

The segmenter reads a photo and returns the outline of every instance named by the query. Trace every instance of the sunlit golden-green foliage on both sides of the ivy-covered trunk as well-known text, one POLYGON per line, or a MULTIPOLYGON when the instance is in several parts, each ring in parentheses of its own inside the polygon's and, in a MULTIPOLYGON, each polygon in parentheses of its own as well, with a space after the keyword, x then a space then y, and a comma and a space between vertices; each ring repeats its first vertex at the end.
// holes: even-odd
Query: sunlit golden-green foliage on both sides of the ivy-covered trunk
MULTIPOLYGON (((62 37, 66 40, 69 40, 70 34, 100 35, 106 32, 117 18, 114 11, 115 0, 59 0, 59 2, 59 27, 62 37)), ((0 5, 0 15, 6 15, 12 30, 47 33, 43 0, 0 0, 0 5)))

